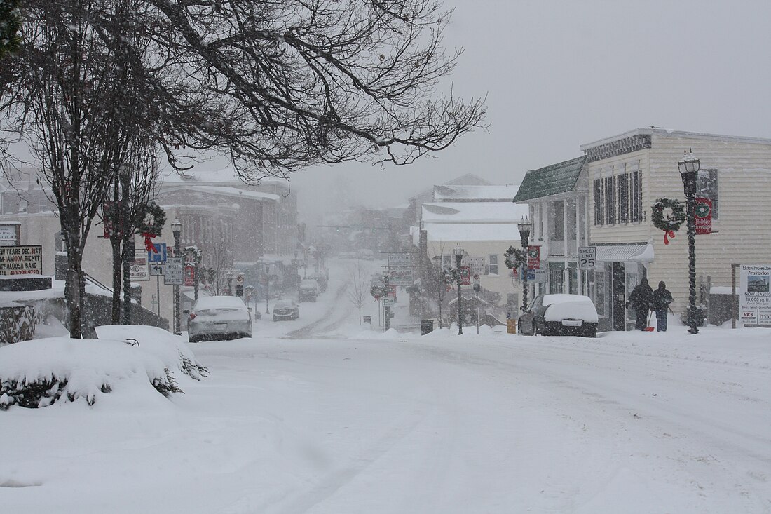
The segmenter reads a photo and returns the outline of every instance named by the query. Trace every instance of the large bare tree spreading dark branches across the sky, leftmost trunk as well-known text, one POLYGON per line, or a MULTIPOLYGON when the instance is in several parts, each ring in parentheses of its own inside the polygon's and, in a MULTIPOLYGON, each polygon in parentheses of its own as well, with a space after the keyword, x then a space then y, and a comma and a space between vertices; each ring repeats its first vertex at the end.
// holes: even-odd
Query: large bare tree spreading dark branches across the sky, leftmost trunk
POLYGON ((460 51, 442 47, 449 13, 436 0, 25 0, 21 19, 19 51, 0 57, 0 154, 25 142, 52 188, 73 337, 82 249, 125 161, 113 143, 126 121, 179 171, 216 149, 251 181, 320 163, 410 164, 485 114, 482 100, 437 93, 460 51), (116 103, 124 89, 139 102, 116 103))

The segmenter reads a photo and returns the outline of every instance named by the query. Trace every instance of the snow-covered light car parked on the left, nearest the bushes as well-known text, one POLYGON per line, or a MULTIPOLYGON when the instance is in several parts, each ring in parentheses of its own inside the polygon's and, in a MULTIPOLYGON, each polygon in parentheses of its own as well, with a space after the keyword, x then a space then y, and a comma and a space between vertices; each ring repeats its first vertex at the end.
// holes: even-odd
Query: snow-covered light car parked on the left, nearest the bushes
POLYGON ((203 296, 187 315, 187 340, 251 337, 251 307, 237 296, 203 296))

